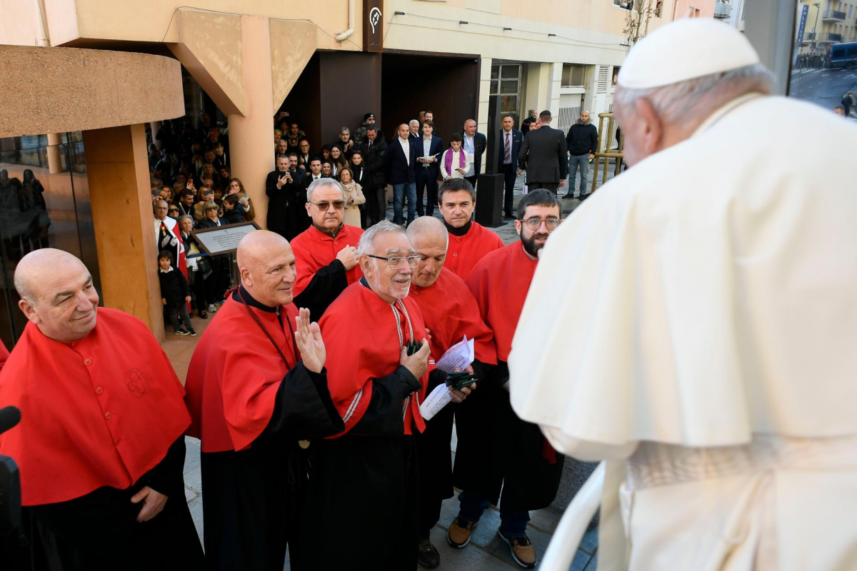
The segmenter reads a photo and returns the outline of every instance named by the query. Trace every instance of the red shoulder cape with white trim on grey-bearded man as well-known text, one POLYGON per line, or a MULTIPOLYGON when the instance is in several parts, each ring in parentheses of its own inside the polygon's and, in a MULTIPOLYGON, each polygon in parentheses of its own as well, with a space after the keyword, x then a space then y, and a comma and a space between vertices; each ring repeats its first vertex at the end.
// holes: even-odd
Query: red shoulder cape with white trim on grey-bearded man
MULTIPOLYGON (((410 296, 402 300, 411 318, 417 341, 426 338, 423 314, 410 296)), ((397 304, 397 307, 399 304, 397 304)), ((399 310, 401 313, 401 310, 399 310)), ((405 343, 411 341, 411 331, 404 315, 399 324, 405 343)), ((372 398, 373 378, 386 377, 399 367, 401 345, 392 306, 363 284, 352 283, 327 308, 319 321, 321 336, 327 347, 327 387, 339 415, 345 422, 345 432, 363 418, 372 398)), ((420 383, 428 383, 429 366, 420 383)), ((425 422, 420 415, 419 401, 413 395, 405 401, 405 434, 411 434, 411 420, 423 431, 425 422)))

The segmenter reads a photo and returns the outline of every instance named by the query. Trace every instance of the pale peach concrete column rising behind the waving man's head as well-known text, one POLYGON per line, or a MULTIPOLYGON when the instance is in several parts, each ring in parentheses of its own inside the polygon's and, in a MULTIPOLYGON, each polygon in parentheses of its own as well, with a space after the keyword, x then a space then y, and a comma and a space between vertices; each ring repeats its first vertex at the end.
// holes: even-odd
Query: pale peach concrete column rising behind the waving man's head
POLYGON ((255 223, 265 228, 265 177, 274 166, 271 35, 267 18, 242 16, 241 51, 246 116, 228 117, 232 175, 241 179, 254 203, 255 223))

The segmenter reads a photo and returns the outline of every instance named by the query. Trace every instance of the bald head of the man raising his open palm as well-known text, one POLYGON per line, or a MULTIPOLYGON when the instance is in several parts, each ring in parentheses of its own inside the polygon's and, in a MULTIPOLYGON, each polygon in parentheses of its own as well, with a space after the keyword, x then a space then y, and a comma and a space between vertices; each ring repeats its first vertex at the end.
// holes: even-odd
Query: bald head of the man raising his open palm
POLYGON ((241 284, 264 306, 291 303, 295 285, 295 256, 285 238, 268 230, 255 230, 238 243, 236 253, 241 284))

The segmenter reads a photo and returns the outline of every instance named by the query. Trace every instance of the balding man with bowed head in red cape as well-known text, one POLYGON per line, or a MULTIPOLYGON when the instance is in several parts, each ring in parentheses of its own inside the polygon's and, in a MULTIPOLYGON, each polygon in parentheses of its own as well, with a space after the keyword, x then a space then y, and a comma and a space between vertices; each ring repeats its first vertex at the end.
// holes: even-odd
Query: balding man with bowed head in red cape
MULTIPOLYGON (((431 359, 435 362, 440 360, 446 349, 467 336, 474 341, 476 378, 483 378, 485 366, 497 364, 494 333, 482 322, 479 306, 470 289, 443 265, 449 241, 446 228, 435 217, 419 217, 408 226, 407 234, 420 257, 420 264, 412 277, 411 296, 423 312, 431 335, 431 359)), ((424 400, 425 391, 433 389, 428 386, 421 390, 420 400, 424 400)), ((470 389, 476 389, 476 384, 470 389)), ((464 395, 470 394, 468 389, 463 391, 464 395)), ((457 392, 453 392, 453 400, 463 401, 464 395, 457 395, 457 392)), ((440 553, 429 535, 440 519, 441 503, 452 497, 450 452, 455 410, 454 405, 446 405, 432 419, 426 420, 425 431, 416 438, 420 457, 420 537, 417 551, 420 565, 428 569, 440 565, 440 553)))

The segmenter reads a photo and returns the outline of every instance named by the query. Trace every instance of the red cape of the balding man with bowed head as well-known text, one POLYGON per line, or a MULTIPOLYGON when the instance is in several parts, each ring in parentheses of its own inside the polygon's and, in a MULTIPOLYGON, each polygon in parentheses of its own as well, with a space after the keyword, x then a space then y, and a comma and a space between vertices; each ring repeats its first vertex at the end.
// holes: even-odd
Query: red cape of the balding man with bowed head
MULTIPOLYGON (((466 335, 474 340, 476 359, 488 365, 497 364, 494 333, 482 321, 476 299, 460 277, 442 268, 437 281, 428 288, 411 286, 411 296, 431 331, 432 359, 439 360, 446 349, 466 335)), ((425 398, 424 391, 421 400, 425 398)))

